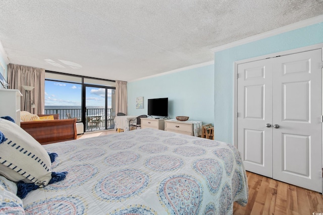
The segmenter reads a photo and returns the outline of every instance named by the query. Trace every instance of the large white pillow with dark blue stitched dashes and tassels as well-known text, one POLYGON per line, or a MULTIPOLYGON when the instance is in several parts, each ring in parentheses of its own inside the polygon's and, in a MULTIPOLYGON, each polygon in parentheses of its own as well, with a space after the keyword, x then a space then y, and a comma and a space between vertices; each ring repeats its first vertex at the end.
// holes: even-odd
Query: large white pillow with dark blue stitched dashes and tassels
POLYGON ((0 175, 39 187, 47 185, 51 179, 51 162, 46 150, 9 120, 0 118, 0 131, 7 138, 0 144, 0 175))

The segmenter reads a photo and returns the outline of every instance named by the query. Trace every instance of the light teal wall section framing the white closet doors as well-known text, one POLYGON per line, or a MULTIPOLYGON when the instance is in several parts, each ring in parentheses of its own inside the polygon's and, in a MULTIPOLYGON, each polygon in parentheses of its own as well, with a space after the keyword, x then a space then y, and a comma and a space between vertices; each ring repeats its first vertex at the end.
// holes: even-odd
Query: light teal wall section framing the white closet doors
POLYGON ((214 133, 233 143, 234 62, 256 56, 323 43, 323 23, 214 53, 214 133))

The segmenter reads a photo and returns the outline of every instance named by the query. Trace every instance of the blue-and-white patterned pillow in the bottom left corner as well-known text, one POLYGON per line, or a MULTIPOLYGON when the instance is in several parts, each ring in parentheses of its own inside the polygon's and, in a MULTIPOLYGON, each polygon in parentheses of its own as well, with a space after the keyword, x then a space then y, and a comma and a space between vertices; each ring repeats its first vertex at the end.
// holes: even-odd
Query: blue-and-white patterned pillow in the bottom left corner
POLYGON ((25 214, 22 200, 12 192, 9 192, 0 184, 0 213, 1 214, 25 214))

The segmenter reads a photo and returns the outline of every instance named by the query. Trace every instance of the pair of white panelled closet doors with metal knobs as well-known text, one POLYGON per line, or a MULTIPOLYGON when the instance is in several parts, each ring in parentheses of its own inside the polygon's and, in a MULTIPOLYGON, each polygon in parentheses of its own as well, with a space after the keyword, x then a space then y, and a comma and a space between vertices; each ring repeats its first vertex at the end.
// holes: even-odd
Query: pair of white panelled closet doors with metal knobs
POLYGON ((237 146, 247 171, 322 192, 322 50, 238 64, 237 146))

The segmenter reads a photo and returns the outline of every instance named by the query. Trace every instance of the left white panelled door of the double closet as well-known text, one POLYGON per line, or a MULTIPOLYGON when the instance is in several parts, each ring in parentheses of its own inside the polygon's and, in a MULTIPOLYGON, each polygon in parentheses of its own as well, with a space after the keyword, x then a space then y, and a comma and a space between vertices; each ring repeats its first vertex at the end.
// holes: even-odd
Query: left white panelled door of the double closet
POLYGON ((272 67, 267 60, 238 65, 238 150, 246 170, 273 175, 272 67))

